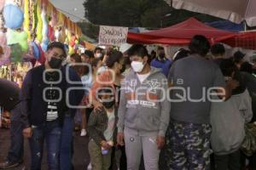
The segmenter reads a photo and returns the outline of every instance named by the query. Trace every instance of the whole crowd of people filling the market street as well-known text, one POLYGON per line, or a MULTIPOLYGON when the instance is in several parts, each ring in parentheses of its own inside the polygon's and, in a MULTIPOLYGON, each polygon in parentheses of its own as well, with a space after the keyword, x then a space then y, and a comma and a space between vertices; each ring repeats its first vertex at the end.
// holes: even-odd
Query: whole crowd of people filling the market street
POLYGON ((50 170, 73 169, 76 122, 90 137, 88 169, 256 169, 255 153, 241 151, 247 123, 256 128, 256 54, 228 57, 223 44, 197 35, 172 57, 143 44, 67 57, 61 42, 45 57, 13 93, 11 147, 0 169, 20 164, 23 136, 30 169, 41 169, 44 143, 50 170))

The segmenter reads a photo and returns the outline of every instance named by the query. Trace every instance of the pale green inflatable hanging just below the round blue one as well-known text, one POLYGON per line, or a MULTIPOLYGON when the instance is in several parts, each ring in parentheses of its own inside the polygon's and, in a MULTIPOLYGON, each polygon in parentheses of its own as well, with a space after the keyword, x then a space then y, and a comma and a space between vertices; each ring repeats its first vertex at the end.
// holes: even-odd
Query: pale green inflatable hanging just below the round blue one
POLYGON ((26 31, 15 31, 8 29, 6 36, 8 45, 18 43, 20 44, 21 51, 24 53, 27 52, 28 44, 26 31))

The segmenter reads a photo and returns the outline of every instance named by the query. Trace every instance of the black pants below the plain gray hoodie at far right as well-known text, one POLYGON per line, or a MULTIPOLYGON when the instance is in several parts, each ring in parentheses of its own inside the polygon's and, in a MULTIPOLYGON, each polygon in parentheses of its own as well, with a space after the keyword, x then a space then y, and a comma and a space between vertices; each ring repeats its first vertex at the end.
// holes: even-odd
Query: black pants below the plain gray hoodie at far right
POLYGON ((241 170, 241 152, 237 150, 229 155, 214 155, 216 170, 241 170))

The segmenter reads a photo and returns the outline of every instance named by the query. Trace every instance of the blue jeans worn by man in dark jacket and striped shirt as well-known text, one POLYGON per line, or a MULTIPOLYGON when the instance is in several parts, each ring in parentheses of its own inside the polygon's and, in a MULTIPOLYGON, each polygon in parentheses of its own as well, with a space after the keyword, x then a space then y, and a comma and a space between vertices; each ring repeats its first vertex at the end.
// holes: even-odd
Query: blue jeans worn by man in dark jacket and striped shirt
POLYGON ((32 138, 29 139, 31 150, 31 170, 40 170, 43 158, 44 139, 47 146, 47 161, 49 170, 60 169, 61 127, 59 122, 47 122, 43 127, 32 128, 32 138))

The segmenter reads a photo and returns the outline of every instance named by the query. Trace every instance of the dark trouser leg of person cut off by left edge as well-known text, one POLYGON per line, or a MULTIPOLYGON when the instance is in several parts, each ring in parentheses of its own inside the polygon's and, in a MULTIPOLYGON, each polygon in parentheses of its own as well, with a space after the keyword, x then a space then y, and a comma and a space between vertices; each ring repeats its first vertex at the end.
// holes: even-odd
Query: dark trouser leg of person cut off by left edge
POLYGON ((11 111, 11 145, 7 156, 7 160, 13 163, 23 159, 24 139, 22 130, 22 123, 20 122, 20 105, 16 105, 11 111))

